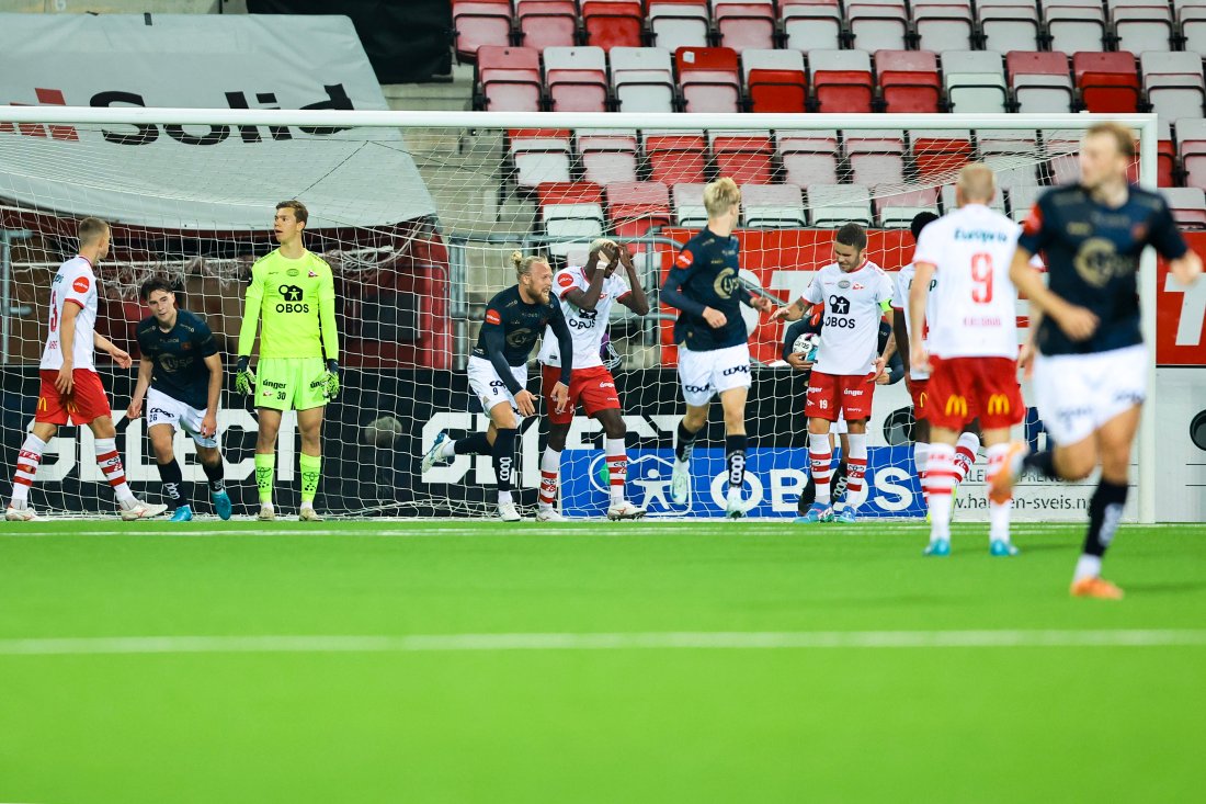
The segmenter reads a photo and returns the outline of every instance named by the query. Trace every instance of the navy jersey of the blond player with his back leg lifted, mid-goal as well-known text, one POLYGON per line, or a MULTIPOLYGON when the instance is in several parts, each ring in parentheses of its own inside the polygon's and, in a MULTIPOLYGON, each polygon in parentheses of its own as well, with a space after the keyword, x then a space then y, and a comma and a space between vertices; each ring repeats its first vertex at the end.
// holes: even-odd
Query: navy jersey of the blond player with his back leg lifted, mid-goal
POLYGON ((674 343, 692 351, 745 343, 749 333, 742 303, 749 303, 750 292, 742 285, 738 270, 737 238, 703 229, 686 241, 662 285, 662 302, 681 310, 674 322, 674 343), (725 314, 725 326, 713 330, 703 320, 708 307, 725 314))

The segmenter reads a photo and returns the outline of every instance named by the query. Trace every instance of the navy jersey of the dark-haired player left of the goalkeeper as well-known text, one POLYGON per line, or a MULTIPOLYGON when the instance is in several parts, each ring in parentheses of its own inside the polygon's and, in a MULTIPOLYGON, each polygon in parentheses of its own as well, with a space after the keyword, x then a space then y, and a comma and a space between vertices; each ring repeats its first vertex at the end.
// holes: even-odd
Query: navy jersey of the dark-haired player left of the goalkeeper
POLYGON ((218 354, 210 326, 188 310, 176 313, 176 326, 159 328, 154 316, 139 324, 139 350, 142 360, 154 363, 151 388, 174 400, 204 410, 209 407, 210 369, 205 359, 218 354))

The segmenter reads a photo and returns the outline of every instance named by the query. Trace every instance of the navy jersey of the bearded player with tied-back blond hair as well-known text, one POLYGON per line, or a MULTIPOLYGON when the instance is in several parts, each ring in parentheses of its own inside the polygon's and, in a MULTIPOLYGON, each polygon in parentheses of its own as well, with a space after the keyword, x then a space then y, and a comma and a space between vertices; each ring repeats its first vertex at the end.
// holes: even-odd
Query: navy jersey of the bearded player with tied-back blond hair
POLYGON ((552 295, 546 303, 528 304, 520 296, 519 285, 511 285, 497 293, 486 305, 486 319, 478 333, 478 345, 473 348, 474 357, 484 357, 494 365, 498 378, 507 383, 511 394, 522 390, 508 366, 522 366, 532 355, 532 346, 552 327, 561 349, 561 381, 569 385, 573 371, 574 344, 569 326, 561 311, 561 303, 552 295), (514 388, 511 388, 514 385, 514 388))

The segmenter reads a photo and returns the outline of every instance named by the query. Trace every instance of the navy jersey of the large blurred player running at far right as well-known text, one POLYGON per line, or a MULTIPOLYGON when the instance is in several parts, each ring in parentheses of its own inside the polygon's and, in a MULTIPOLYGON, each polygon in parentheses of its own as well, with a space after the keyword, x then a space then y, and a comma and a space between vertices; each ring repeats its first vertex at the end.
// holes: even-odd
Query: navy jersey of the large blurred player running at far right
POLYGON ((1026 219, 1018 245, 1043 255, 1052 292, 1088 308, 1101 321, 1093 337, 1072 340, 1055 321, 1044 317, 1037 338, 1044 355, 1110 351, 1142 343, 1140 255, 1147 245, 1166 260, 1188 251, 1164 197, 1135 186, 1118 209, 1094 200, 1079 185, 1047 191, 1026 219))

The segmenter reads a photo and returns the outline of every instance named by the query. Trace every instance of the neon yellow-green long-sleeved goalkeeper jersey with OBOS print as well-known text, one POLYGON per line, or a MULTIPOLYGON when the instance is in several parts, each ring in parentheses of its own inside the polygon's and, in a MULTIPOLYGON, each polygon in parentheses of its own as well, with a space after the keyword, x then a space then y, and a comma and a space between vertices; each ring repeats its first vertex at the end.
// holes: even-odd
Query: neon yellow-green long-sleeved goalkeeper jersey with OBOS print
POLYGON ((298 260, 280 249, 251 268, 251 285, 242 310, 239 355, 251 356, 259 333, 259 357, 323 357, 339 360, 335 331, 335 279, 330 266, 306 251, 298 260))

